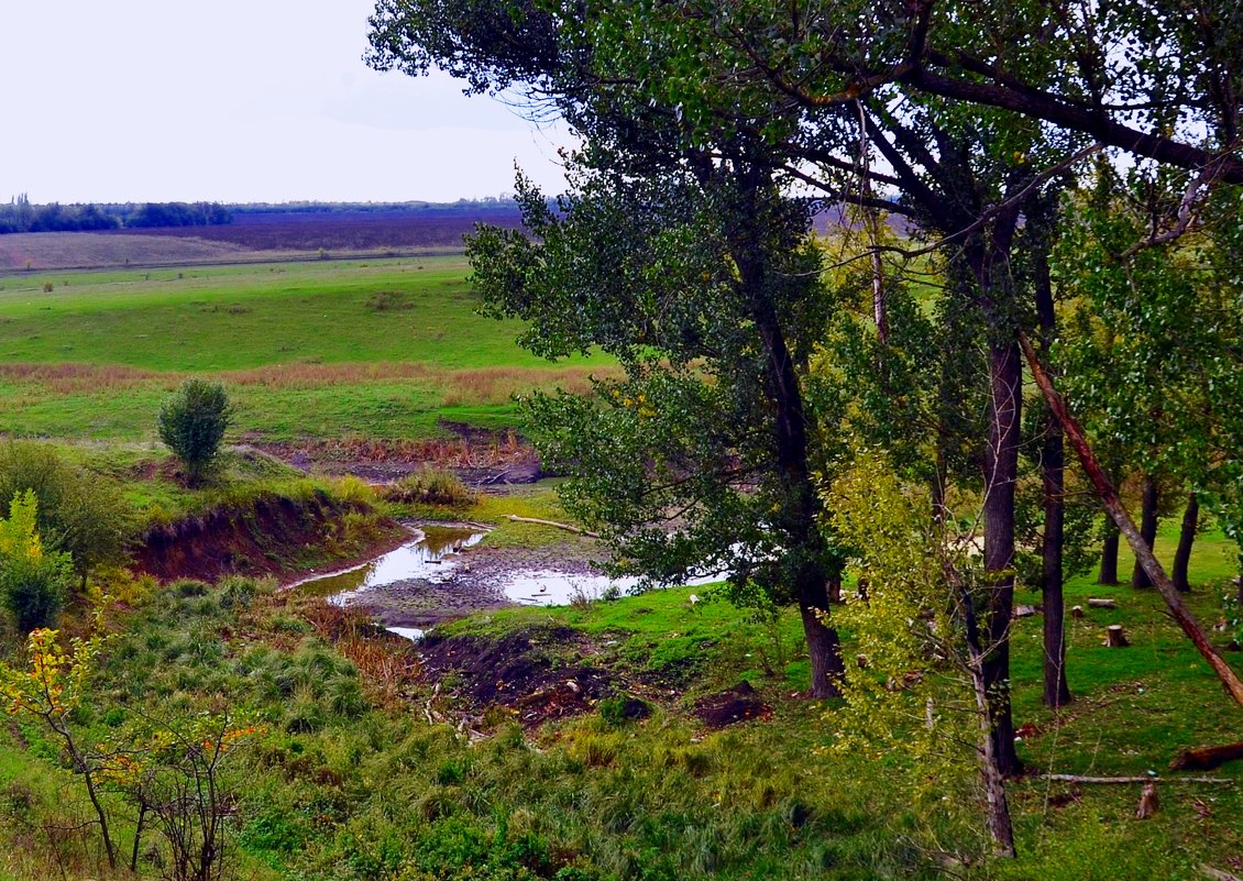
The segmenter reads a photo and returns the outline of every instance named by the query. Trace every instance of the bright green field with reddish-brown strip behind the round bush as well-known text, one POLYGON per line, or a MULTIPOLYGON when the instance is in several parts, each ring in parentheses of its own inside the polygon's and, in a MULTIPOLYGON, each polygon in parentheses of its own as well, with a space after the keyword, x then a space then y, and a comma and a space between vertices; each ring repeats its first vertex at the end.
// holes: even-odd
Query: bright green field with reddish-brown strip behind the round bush
POLYGON ((475 314, 466 273, 426 257, 0 280, 0 431, 150 440, 160 399, 205 375, 237 436, 428 437, 440 419, 512 425, 513 394, 607 368, 525 353, 515 323, 475 314))

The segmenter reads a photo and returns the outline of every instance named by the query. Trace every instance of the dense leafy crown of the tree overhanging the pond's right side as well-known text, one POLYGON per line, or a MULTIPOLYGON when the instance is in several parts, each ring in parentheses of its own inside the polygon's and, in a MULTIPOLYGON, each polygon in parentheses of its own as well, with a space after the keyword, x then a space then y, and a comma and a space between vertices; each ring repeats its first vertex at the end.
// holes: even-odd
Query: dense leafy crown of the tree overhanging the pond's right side
POLYGON ((481 230, 469 244, 487 308, 530 322, 525 345, 598 345, 625 367, 594 399, 525 401, 536 444, 569 475, 567 509, 610 541, 614 572, 727 572, 788 603, 835 568, 808 513, 807 460, 834 439, 808 430, 830 415, 803 396, 830 311, 803 209, 743 160, 635 179, 590 162, 605 168, 584 169, 558 215, 520 181, 531 239, 481 230), (764 270, 741 276, 746 261, 764 270))

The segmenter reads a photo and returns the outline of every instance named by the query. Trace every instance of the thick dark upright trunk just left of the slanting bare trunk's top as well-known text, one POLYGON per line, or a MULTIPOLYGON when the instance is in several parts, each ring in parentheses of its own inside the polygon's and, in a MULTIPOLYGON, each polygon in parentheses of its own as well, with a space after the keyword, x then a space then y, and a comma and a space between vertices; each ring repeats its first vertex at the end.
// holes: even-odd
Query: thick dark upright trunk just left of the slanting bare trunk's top
POLYGON ((1022 770, 1014 752, 1014 721, 1009 700, 1009 626, 1014 608, 1014 485, 1018 480, 1023 370, 1018 344, 989 344, 988 450, 984 456, 984 572, 992 583, 984 628, 982 672, 992 707, 992 757, 997 770, 1013 777, 1022 770))

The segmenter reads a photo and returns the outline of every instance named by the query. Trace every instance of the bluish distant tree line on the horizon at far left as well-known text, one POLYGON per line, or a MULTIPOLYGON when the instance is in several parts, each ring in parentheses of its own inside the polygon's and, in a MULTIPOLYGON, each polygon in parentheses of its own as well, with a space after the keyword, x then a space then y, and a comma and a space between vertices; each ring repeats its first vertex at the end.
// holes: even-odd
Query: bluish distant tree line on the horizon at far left
POLYGON ((219 203, 123 203, 34 205, 25 193, 0 205, 0 235, 6 232, 82 232, 153 226, 216 226, 232 222, 219 203))

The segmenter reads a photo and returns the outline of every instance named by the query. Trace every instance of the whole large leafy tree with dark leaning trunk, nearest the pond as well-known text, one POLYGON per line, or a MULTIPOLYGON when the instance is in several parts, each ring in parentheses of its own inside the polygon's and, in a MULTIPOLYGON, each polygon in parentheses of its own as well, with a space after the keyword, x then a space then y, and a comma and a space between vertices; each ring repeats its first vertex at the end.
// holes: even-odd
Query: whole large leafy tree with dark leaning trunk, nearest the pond
MULTIPOLYGON (((566 502, 610 539, 615 569, 653 583, 725 572, 740 601, 797 604, 812 693, 835 695, 840 562, 815 485, 835 435, 808 394, 830 306, 809 206, 783 193, 768 138, 687 130, 623 72, 633 56, 553 21, 522 5, 387 2, 373 62, 522 87, 588 137, 556 210, 520 181, 527 232, 469 245, 485 302, 528 322, 532 350, 599 347, 625 368, 594 400, 532 401, 543 452, 572 473, 566 502)), ((764 122, 797 127, 769 109, 764 122)))

